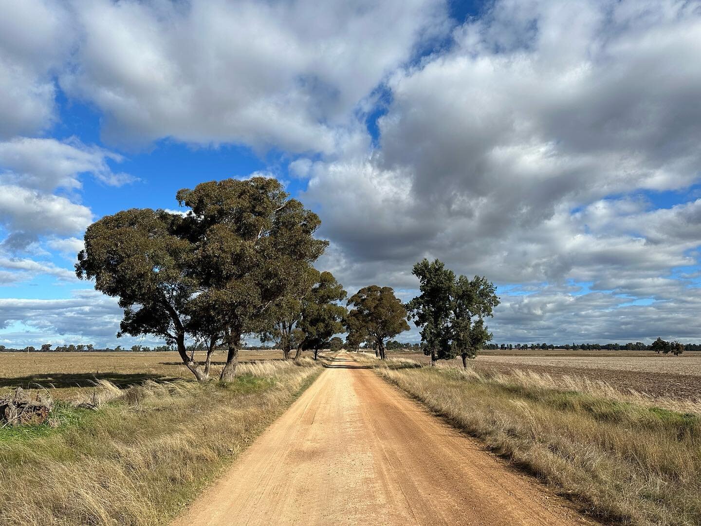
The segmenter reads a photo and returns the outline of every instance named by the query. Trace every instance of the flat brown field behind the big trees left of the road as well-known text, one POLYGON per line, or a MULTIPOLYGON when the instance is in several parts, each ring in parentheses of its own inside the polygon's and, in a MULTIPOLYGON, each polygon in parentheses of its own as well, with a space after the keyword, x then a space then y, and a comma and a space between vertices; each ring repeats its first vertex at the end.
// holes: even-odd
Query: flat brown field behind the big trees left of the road
MULTIPOLYGON (((312 356, 304 353, 303 356, 312 356)), ((282 359, 282 351, 240 352, 239 360, 282 359)), ((204 354, 201 357, 204 359, 204 354)), ((226 353, 215 353, 215 371, 226 360, 226 353)), ((51 389, 54 398, 71 399, 80 389, 104 379, 116 386, 139 384, 146 379, 167 381, 194 378, 176 352, 108 353, 0 353, 0 391, 23 387, 51 389)))

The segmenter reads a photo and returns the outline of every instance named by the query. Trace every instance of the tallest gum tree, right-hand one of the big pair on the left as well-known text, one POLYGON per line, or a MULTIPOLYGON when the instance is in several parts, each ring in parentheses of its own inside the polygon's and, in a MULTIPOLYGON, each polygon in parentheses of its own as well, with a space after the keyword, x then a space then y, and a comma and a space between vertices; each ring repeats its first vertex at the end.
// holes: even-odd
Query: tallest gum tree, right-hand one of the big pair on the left
POLYGON ((230 381, 243 335, 297 291, 328 242, 314 237, 318 215, 270 177, 204 182, 178 191, 177 200, 191 208, 195 274, 228 349, 220 379, 230 381))

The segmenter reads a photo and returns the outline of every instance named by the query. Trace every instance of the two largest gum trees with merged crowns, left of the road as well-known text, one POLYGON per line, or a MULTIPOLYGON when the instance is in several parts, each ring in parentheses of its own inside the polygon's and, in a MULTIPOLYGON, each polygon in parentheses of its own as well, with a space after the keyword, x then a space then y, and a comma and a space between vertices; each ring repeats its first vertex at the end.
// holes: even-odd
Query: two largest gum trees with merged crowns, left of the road
POLYGON ((207 374, 186 340, 221 342, 220 379, 230 381, 243 336, 297 290, 327 241, 314 237, 318 216, 272 178, 204 182, 178 191, 177 201, 186 215, 132 209, 90 225, 76 274, 118 298, 119 335, 175 343, 200 381, 207 374))

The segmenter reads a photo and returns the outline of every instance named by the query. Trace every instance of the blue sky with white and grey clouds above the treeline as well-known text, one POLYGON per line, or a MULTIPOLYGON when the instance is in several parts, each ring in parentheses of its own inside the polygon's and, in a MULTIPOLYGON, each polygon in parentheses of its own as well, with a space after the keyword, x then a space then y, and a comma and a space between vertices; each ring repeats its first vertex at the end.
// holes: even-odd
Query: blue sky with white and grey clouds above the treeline
POLYGON ((699 56, 699 0, 0 0, 0 344, 158 342, 83 232, 252 174, 351 293, 438 258, 496 342, 700 341, 699 56))

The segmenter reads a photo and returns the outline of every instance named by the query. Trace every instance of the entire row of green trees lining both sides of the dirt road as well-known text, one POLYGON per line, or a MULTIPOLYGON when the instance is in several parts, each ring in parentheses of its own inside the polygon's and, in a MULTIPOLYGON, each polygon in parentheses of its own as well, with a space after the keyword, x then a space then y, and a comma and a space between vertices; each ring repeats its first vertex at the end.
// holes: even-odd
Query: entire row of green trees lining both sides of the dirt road
POLYGON ((421 295, 407 306, 392 288, 370 285, 347 311, 343 286, 313 267, 328 245, 314 237, 319 217, 273 178, 203 182, 176 198, 187 213, 132 208, 91 224, 76 274, 118 298, 117 336, 163 337, 200 382, 216 349, 227 352, 220 379, 233 379, 245 335, 275 342, 285 358, 294 349, 295 359, 304 350, 316 359, 320 349, 340 348, 332 337, 345 331, 350 349, 372 344, 384 359, 386 342, 414 319, 432 363, 460 355, 465 365, 491 339, 484 318, 498 304, 494 285, 456 278, 438 260, 414 266, 421 295))

